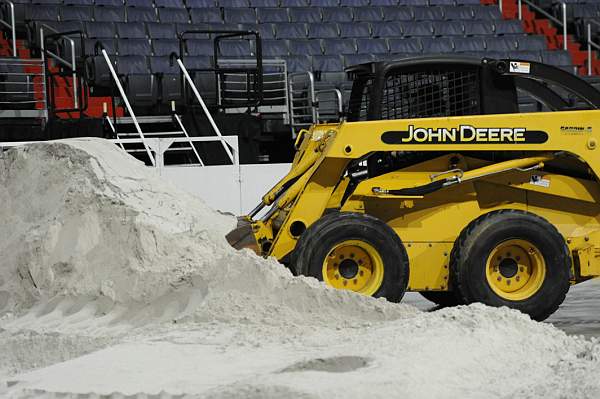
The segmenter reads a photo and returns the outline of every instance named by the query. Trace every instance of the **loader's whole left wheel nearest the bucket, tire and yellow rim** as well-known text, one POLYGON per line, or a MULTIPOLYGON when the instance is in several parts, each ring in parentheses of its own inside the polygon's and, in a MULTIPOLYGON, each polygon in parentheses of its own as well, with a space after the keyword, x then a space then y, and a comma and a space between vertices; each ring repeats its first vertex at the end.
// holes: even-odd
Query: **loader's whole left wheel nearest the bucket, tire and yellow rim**
POLYGON ((292 255, 297 274, 330 287, 399 302, 408 285, 408 257, 398 235, 381 220, 331 213, 305 231, 292 255))

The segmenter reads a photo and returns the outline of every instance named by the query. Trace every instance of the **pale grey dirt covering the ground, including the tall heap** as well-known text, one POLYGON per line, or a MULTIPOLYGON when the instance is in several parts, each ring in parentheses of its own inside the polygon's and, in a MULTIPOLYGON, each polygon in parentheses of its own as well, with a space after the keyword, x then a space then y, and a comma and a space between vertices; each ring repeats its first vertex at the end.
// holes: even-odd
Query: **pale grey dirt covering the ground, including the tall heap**
POLYGON ((3 397, 600 397, 597 340, 293 277, 100 139, 0 153, 0 204, 3 397))

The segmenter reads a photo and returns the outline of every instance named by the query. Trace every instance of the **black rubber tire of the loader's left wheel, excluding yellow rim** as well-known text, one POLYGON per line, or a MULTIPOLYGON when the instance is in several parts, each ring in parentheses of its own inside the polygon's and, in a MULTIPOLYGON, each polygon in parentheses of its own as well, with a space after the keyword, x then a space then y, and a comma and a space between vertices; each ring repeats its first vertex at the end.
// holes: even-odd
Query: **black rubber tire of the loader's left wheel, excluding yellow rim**
POLYGON ((346 240, 369 244, 382 259, 383 281, 372 296, 400 302, 408 286, 406 249, 391 227, 369 215, 335 212, 313 223, 302 234, 292 254, 293 271, 323 281, 325 258, 346 240))

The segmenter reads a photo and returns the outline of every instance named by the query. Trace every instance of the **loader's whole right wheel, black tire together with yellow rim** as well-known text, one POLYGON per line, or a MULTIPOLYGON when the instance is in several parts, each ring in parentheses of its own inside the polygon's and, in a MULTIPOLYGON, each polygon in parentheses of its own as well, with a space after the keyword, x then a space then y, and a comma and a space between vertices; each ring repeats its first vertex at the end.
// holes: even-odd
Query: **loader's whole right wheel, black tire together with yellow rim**
POLYGON ((454 245, 453 281, 465 303, 508 306, 544 320, 569 291, 564 238, 545 219, 503 210, 473 221, 454 245))

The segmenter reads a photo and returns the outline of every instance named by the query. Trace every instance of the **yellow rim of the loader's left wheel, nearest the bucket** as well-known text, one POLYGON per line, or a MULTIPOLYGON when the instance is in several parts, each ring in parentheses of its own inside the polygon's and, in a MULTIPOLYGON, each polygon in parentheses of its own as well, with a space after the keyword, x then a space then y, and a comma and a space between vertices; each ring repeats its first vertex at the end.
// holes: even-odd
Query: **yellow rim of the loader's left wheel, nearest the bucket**
POLYGON ((333 288, 371 296, 383 282, 383 260, 364 241, 343 241, 323 261, 323 281, 333 288))

